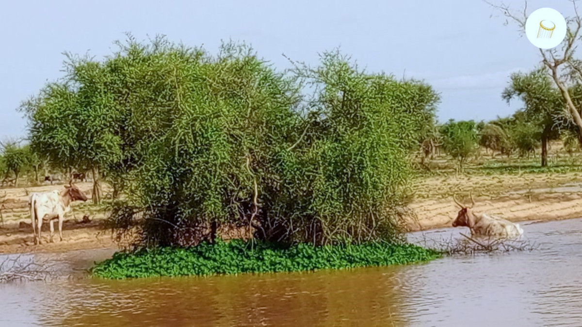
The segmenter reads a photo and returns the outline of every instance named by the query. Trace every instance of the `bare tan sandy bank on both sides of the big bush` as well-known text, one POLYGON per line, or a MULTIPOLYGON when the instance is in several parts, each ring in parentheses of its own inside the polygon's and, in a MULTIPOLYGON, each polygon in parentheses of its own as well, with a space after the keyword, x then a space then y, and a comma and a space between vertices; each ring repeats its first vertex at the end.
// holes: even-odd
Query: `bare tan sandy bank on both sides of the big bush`
MULTIPOLYGON (((77 185, 90 196, 92 188, 90 182, 77 185)), ((55 242, 48 242, 49 226, 45 222, 42 229, 44 243, 34 245, 28 194, 62 187, 44 185, 0 189, 0 209, 4 221, 3 225, 0 225, 0 253, 59 253, 70 250, 117 248, 111 239, 111 232, 100 226, 105 215, 104 211, 91 201, 72 204, 72 213, 66 215, 63 225, 63 241, 59 241, 58 232, 55 231, 55 242), (6 196, 2 197, 5 192, 6 196), (88 215, 91 221, 83 223, 81 221, 83 215, 88 215)), ((416 218, 411 217, 408 220, 407 224, 411 231, 450 226, 459 210, 452 200, 453 193, 460 201, 470 203, 468 195, 472 192, 475 212, 497 215, 510 221, 546 221, 582 217, 580 173, 549 176, 430 177, 419 179, 413 188, 416 195, 410 207, 416 218)))

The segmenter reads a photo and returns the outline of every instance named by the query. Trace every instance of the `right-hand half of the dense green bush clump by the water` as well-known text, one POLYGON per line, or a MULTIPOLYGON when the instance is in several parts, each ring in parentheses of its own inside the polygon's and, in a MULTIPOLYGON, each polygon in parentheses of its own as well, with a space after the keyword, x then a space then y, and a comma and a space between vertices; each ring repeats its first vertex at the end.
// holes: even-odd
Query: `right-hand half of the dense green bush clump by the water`
POLYGON ((268 192, 261 227, 274 242, 398 239, 407 153, 434 120, 438 96, 421 82, 357 69, 338 52, 296 74, 317 91, 305 141, 278 154, 281 185, 268 192))

